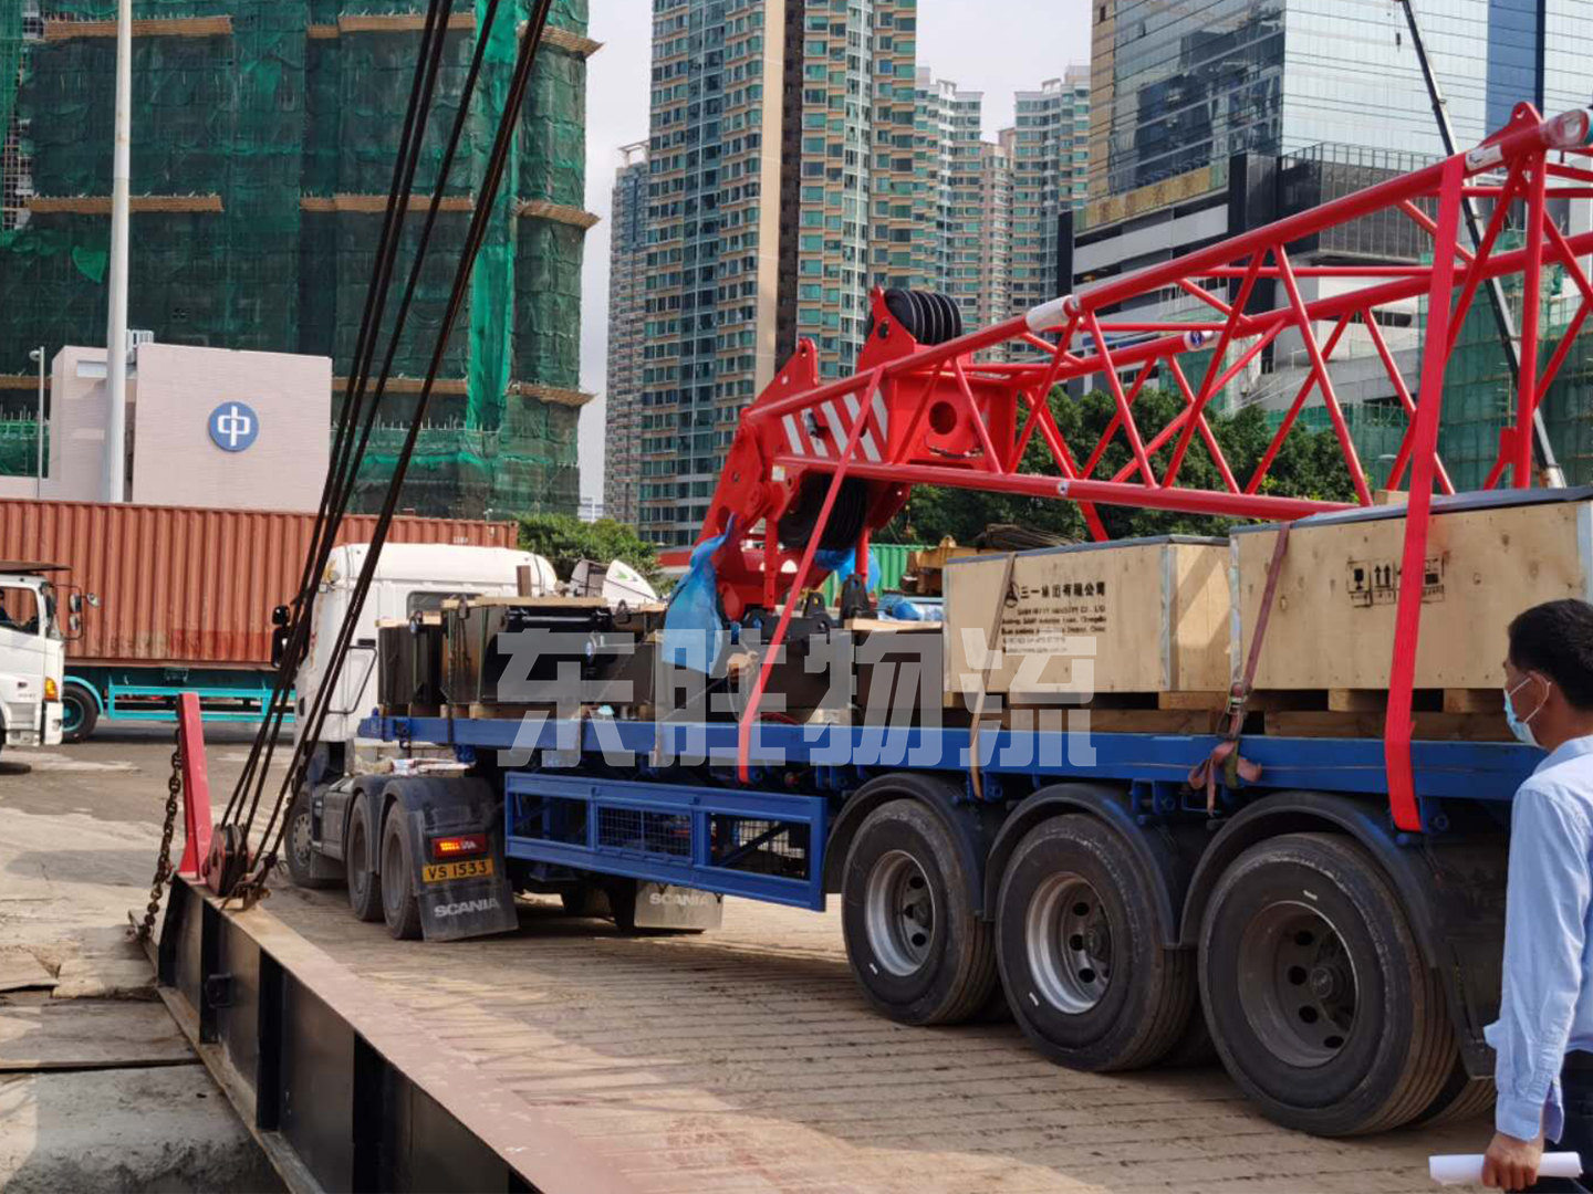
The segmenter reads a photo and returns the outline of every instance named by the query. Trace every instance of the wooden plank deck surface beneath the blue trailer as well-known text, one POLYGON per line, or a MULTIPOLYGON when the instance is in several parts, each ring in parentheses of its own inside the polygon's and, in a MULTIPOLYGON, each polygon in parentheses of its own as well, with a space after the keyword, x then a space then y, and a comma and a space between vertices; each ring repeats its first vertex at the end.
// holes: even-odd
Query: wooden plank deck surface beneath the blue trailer
POLYGON ((1082 1075, 1015 1025, 906 1028, 852 985, 835 911, 728 899, 695 938, 623 938, 551 903, 513 936, 395 942, 341 892, 269 912, 650 1194, 1427 1191, 1486 1121, 1314 1140, 1220 1070, 1082 1075))

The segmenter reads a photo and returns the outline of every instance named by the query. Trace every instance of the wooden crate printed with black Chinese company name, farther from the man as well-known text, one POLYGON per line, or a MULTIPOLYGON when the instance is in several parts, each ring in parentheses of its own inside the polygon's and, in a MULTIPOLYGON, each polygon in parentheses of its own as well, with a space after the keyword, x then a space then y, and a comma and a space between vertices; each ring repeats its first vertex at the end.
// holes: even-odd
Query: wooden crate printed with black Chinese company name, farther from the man
POLYGON ((1020 552, 1004 594, 1005 568, 1007 556, 946 567, 948 700, 978 689, 997 622, 1002 659, 989 672, 989 693, 1023 699, 1051 686, 1080 693, 1228 686, 1227 540, 1164 537, 1020 552), (1091 645, 1093 656, 1080 654, 1091 645), (1091 662, 1077 678, 1075 657, 1091 662))

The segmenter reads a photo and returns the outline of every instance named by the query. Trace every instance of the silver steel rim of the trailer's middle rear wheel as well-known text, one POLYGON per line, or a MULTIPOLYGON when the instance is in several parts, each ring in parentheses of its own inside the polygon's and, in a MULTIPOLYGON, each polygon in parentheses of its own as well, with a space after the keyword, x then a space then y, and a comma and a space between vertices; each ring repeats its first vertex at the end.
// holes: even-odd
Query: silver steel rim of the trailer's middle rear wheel
POLYGON ((1035 987, 1066 1016, 1083 1016, 1112 984, 1112 933, 1101 895, 1077 874, 1040 884, 1023 923, 1035 987))

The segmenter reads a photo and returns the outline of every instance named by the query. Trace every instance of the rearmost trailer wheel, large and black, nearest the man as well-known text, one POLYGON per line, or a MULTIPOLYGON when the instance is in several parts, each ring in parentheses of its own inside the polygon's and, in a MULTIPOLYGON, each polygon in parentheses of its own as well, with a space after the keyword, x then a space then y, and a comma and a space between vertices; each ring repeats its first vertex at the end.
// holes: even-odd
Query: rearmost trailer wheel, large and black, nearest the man
POLYGON ((1286 1127, 1399 1127, 1450 1076, 1443 992, 1348 837, 1297 833, 1239 855, 1201 923, 1200 990, 1223 1067, 1286 1127))

